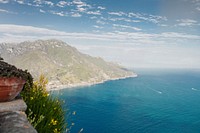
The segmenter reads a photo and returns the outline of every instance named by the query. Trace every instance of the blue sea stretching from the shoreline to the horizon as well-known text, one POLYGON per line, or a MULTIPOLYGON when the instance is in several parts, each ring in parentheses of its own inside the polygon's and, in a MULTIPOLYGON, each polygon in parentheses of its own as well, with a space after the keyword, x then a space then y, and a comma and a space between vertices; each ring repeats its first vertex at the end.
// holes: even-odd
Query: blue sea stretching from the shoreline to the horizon
POLYGON ((200 70, 136 73, 137 78, 55 91, 65 100, 70 132, 200 133, 200 70))

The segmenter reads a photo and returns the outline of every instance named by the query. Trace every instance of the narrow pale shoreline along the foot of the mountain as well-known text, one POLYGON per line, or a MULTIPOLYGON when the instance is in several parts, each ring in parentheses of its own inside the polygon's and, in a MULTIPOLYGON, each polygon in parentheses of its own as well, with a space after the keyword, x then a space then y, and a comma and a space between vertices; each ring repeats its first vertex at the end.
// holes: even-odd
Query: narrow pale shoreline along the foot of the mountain
POLYGON ((76 83, 76 84, 68 84, 68 85, 64 85, 64 84, 53 84, 53 85, 47 85, 47 91, 58 91, 58 90, 63 90, 63 89, 72 89, 72 88, 76 88, 76 87, 85 87, 85 86, 92 86, 92 85, 97 85, 97 84, 102 84, 105 83, 107 81, 114 81, 114 80, 121 80, 121 79, 127 79, 127 78, 136 78, 138 77, 138 75, 136 73, 133 73, 132 75, 129 76, 124 76, 124 77, 119 77, 119 78, 111 78, 111 79, 106 79, 106 80, 102 80, 99 82, 94 82, 94 83, 76 83))

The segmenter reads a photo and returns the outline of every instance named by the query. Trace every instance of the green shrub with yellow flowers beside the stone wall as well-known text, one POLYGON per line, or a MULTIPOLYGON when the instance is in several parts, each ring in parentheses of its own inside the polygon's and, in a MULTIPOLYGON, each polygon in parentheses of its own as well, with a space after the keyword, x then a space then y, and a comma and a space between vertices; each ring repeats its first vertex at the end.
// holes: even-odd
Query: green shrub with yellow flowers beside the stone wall
POLYGON ((63 133, 67 124, 62 108, 63 102, 46 91, 47 79, 41 76, 32 85, 26 84, 21 96, 27 104, 26 114, 29 122, 38 133, 63 133))

